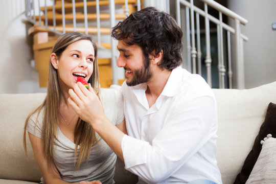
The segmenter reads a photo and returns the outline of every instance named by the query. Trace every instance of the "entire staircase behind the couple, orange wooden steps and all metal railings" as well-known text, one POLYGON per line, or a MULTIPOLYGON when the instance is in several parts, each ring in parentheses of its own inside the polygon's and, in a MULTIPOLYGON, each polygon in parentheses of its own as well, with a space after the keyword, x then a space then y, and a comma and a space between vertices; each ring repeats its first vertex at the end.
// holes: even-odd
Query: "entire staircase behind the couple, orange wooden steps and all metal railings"
MULTIPOLYGON (((241 25, 246 25, 247 20, 216 1, 142 3, 157 8, 162 4, 165 11, 175 13, 184 33, 183 68, 201 75, 212 88, 244 88, 243 42, 248 38, 241 33, 241 25)), ((121 84, 125 76, 116 64, 117 42, 110 37, 111 28, 140 9, 140 0, 26 0, 26 17, 34 25, 28 34, 34 40, 40 87, 47 86, 49 56, 55 40, 71 31, 90 34, 96 40, 101 87, 121 84)))

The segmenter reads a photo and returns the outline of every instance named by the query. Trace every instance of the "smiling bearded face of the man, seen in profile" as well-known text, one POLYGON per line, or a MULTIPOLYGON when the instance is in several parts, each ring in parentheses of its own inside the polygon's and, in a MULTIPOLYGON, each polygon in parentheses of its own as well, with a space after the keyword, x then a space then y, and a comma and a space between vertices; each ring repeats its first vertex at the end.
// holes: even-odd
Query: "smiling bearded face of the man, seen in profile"
POLYGON ((120 56, 117 61, 118 67, 124 67, 126 71, 126 83, 134 86, 151 79, 150 64, 143 55, 142 49, 137 45, 126 45, 123 40, 118 41, 120 56))

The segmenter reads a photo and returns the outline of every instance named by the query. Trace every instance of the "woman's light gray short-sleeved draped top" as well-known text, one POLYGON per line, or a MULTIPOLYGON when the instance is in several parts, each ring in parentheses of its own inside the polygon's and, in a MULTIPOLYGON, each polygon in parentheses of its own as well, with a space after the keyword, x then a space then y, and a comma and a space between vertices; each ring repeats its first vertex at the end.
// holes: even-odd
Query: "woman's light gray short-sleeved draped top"
MULTIPOLYGON (((107 118, 117 125, 124 120, 123 100, 119 91, 102 89, 101 100, 107 118)), ((35 128, 36 114, 28 122, 27 131, 41 138, 43 111, 39 114, 35 128)), ((81 164, 75 170, 75 144, 71 142, 58 128, 57 141, 54 145, 54 163, 60 172, 62 180, 66 182, 80 182, 100 180, 103 184, 114 183, 113 176, 117 155, 96 133, 98 143, 91 148, 88 163, 81 164)), ((77 157, 78 159, 78 157, 77 157)), ((43 178, 41 179, 43 181, 43 178)))

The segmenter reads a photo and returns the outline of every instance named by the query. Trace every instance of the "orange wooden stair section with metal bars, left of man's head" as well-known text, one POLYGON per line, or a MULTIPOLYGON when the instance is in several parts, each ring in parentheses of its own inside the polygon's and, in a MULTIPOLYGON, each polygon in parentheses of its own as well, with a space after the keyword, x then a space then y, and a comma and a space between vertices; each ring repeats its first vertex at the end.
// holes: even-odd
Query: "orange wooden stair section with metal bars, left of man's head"
POLYGON ((72 31, 89 34, 96 41, 101 87, 121 84, 124 76, 120 80, 118 73, 112 70, 116 50, 112 51, 111 47, 116 43, 112 43, 110 32, 117 22, 140 7, 137 0, 26 0, 26 17, 33 24, 28 35, 33 37, 39 86, 47 87, 50 54, 58 36, 72 31))

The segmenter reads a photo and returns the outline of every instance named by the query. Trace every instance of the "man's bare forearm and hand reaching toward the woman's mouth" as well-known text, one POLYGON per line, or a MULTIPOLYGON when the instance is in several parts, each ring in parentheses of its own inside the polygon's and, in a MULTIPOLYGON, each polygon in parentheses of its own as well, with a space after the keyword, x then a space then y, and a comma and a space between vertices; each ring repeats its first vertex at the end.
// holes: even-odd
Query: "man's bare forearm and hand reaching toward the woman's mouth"
POLYGON ((114 153, 124 160, 121 143, 125 133, 105 116, 103 106, 91 85, 89 84, 87 89, 78 82, 74 89, 69 90, 69 94, 71 97, 68 98, 68 103, 72 105, 78 116, 89 123, 114 153))

